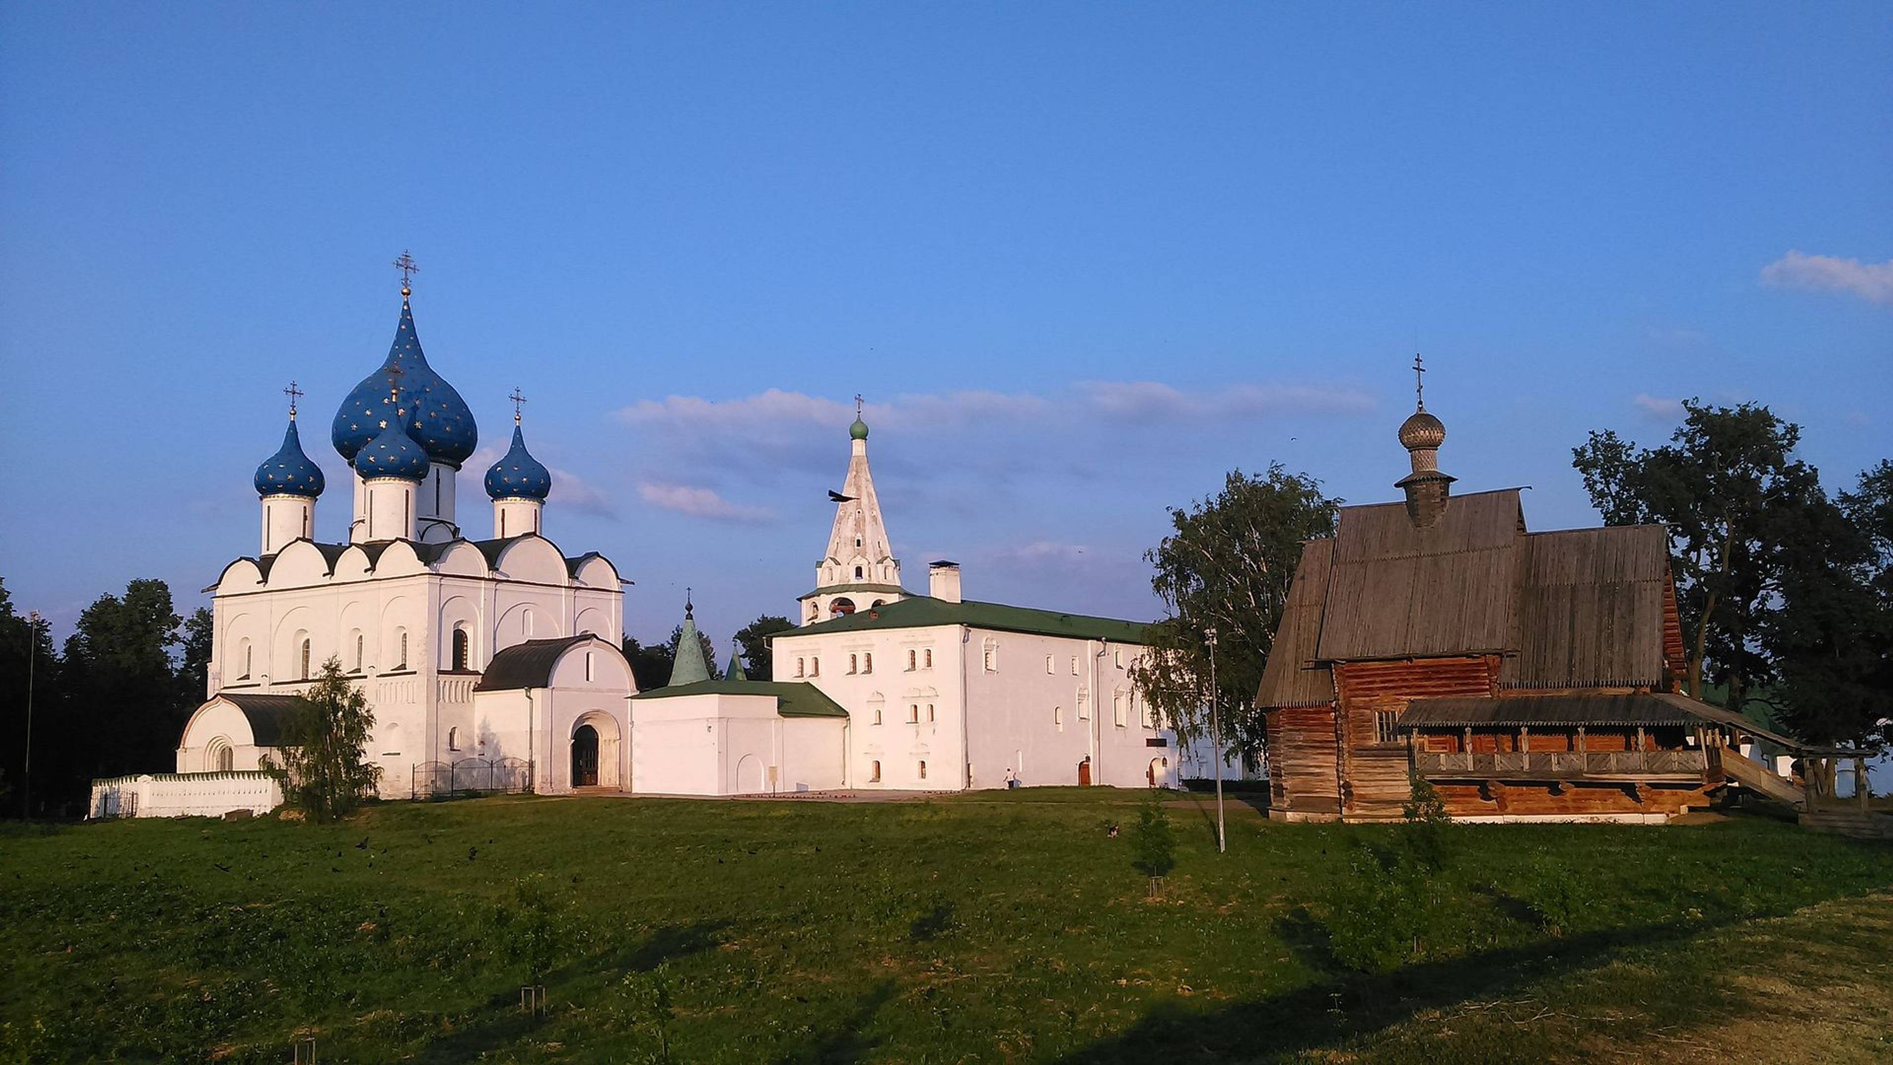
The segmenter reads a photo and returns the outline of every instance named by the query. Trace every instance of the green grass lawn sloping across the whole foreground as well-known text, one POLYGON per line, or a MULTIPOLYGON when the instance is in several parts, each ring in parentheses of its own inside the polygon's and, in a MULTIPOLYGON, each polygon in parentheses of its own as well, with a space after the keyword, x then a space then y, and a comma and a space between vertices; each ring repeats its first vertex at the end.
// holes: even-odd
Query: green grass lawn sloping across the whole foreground
POLYGON ((1338 944, 1389 938, 1361 883, 1405 826, 1230 802, 1217 857, 1179 796, 1149 900, 1138 798, 8 824, 0 1061, 1893 1059, 1893 847, 1450 826, 1363 972, 1338 944))

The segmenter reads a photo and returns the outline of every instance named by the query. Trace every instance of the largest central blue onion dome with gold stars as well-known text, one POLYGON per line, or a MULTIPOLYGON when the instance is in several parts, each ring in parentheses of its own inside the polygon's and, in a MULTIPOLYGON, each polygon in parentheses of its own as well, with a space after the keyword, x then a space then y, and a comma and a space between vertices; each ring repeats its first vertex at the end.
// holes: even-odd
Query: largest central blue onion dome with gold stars
POLYGON ((380 370, 363 377, 335 411, 335 424, 329 428, 335 451, 354 462, 356 453, 380 432, 388 411, 390 370, 401 371, 409 436, 426 449, 430 460, 458 470, 479 445, 479 428, 473 424, 473 411, 460 398, 460 392, 428 366, 428 356, 420 351, 420 335, 415 332, 415 311, 407 301, 407 292, 401 294, 401 320, 394 328, 388 360, 380 364, 380 370))

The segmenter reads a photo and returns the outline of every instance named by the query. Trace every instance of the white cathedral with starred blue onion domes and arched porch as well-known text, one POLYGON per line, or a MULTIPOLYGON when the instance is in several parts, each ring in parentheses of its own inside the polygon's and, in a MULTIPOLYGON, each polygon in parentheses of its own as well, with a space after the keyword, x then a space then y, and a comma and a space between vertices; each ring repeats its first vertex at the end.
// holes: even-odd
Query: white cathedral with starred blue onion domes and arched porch
POLYGON ((636 684, 619 650, 617 567, 545 538, 553 478, 526 449, 517 406, 511 449, 485 478, 492 534, 462 529, 454 483, 479 428, 428 364, 409 299, 403 284, 388 358, 331 423, 350 468, 346 542, 314 534, 327 485, 293 402, 282 447, 257 466, 261 542, 210 589, 206 701, 186 724, 178 773, 259 767, 333 658, 373 709, 365 754, 384 798, 469 783, 621 786, 636 684), (483 779, 458 781, 456 766, 483 779))

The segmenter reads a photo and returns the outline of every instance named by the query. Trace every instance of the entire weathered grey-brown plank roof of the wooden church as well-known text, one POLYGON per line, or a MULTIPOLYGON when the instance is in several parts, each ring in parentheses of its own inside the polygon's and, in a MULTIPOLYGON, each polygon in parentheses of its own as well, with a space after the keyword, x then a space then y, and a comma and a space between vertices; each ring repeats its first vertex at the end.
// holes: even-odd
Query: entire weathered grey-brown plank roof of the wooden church
POLYGON ((1670 595, 1660 525, 1526 532, 1518 489, 1452 496, 1425 529, 1348 506, 1302 551, 1257 705, 1333 701, 1335 661, 1482 654, 1503 688, 1662 688, 1670 595))

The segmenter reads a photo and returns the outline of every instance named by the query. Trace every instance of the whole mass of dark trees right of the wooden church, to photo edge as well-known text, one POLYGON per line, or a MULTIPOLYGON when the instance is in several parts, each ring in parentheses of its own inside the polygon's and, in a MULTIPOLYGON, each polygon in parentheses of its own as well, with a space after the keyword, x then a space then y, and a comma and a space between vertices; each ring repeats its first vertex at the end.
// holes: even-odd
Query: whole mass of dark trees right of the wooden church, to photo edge
POLYGON ((1670 443, 1592 432, 1573 464, 1607 525, 1668 527, 1689 694, 1764 705, 1812 741, 1865 737, 1889 713, 1893 468, 1834 500, 1795 455, 1800 426, 1759 404, 1683 407, 1670 443))

